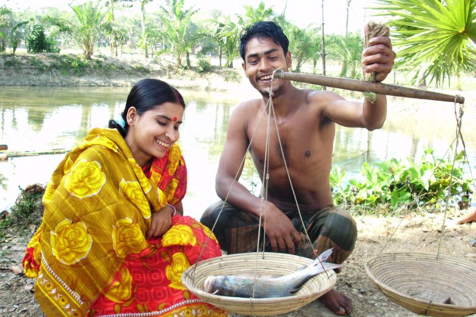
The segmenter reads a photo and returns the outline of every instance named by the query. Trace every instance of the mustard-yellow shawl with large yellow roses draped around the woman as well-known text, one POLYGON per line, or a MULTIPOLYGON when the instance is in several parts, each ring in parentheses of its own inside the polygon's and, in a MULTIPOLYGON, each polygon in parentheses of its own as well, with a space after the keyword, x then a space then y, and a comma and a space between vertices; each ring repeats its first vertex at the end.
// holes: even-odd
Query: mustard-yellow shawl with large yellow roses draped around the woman
POLYGON ((29 245, 40 269, 26 263, 25 274, 38 274, 43 311, 85 316, 125 259, 151 247, 144 233, 167 195, 144 175, 117 130, 95 128, 59 164, 43 204, 29 245))

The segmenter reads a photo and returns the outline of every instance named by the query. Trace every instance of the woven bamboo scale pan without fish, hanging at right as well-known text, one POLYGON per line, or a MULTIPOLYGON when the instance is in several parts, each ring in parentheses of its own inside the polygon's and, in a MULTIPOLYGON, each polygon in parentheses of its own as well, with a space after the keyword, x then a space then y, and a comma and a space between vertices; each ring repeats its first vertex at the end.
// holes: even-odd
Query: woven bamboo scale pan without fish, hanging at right
POLYGON ((476 313, 475 263, 444 256, 436 260, 436 254, 382 253, 365 263, 365 271, 389 299, 416 314, 476 313), (448 297, 451 304, 432 301, 448 297))

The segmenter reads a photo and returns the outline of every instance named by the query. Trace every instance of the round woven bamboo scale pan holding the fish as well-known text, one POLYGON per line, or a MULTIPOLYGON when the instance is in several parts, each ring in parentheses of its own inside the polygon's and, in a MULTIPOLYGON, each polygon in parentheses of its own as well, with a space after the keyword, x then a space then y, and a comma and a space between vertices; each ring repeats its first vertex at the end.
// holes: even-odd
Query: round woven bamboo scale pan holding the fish
POLYGON ((203 284, 210 275, 240 275, 243 273, 260 275, 287 275, 304 265, 312 263, 311 259, 290 254, 265 252, 242 253, 208 259, 194 265, 182 273, 182 283, 201 300, 223 310, 251 316, 273 316, 296 310, 330 291, 336 281, 336 274, 328 271, 309 279, 296 295, 279 298, 239 298, 213 295, 205 292, 203 284), (256 267, 256 258, 258 258, 256 267))

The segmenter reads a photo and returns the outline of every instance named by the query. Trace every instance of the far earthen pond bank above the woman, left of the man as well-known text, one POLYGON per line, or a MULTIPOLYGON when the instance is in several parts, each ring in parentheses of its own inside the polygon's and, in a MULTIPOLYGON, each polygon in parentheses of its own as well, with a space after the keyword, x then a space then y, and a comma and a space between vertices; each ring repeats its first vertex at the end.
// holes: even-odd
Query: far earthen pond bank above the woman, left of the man
POLYGON ((3 53, 0 74, 0 86, 129 87, 147 77, 167 81, 178 89, 226 92, 247 83, 238 68, 177 69, 165 57, 146 59, 138 54, 120 58, 98 54, 86 60, 77 53, 3 53))

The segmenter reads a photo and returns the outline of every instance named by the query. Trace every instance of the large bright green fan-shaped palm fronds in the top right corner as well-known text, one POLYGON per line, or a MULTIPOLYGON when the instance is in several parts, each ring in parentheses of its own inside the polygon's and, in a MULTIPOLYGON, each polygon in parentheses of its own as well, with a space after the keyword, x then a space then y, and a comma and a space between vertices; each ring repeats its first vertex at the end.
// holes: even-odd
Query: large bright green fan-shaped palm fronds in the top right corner
POLYGON ((415 71, 413 83, 441 86, 446 78, 474 69, 475 0, 379 0, 378 15, 390 16, 396 66, 415 71), (473 55, 473 58, 471 57, 473 55))

